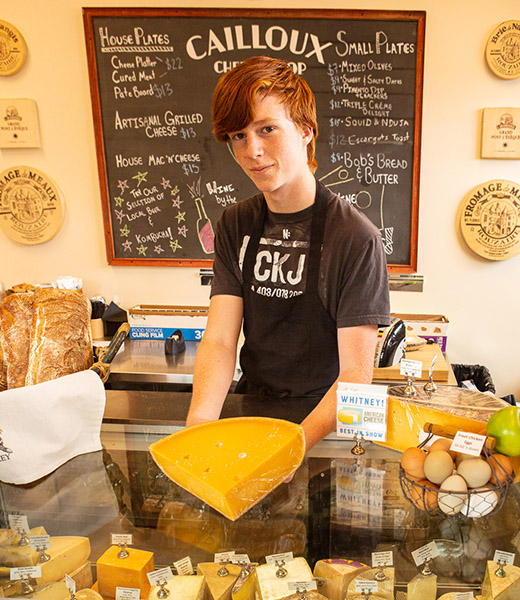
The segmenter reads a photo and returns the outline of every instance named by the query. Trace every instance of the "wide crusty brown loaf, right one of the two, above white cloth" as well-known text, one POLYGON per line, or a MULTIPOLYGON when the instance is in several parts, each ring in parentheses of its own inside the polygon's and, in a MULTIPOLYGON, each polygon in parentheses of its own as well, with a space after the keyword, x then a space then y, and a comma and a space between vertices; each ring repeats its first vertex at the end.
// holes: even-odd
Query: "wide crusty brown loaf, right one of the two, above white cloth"
POLYGON ((92 366, 90 315, 90 301, 82 292, 35 290, 26 385, 92 366))

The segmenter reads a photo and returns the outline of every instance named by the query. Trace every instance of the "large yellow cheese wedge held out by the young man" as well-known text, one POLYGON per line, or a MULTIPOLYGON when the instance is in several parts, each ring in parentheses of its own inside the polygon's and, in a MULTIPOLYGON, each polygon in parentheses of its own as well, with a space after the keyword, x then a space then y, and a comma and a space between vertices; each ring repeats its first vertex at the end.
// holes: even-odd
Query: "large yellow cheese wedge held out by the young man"
POLYGON ((170 479, 234 521, 298 468, 305 439, 288 421, 236 417, 183 429, 149 450, 170 479))

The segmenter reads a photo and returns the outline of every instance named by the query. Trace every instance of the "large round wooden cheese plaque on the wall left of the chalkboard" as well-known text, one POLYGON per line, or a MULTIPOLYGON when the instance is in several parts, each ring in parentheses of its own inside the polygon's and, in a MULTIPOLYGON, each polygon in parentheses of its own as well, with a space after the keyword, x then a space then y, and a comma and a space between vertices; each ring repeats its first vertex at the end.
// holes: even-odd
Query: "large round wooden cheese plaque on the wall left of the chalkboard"
POLYGON ((33 167, 10 167, 0 173, 0 228, 22 244, 52 239, 65 213, 58 187, 33 167))

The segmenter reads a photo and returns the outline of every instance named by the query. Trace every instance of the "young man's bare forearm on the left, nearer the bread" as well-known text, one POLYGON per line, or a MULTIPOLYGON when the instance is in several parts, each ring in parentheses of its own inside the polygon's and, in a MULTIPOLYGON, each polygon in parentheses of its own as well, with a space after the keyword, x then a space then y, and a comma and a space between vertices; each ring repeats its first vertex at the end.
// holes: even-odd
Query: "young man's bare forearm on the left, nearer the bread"
POLYGON ((219 418, 235 373, 243 304, 238 296, 213 296, 197 350, 186 427, 219 418))

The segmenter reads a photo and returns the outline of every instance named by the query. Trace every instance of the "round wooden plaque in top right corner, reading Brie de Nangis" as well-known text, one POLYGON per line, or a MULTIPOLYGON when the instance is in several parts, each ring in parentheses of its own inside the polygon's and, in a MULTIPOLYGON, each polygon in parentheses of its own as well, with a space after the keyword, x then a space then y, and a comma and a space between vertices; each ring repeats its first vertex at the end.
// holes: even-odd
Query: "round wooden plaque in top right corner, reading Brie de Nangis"
POLYGON ((486 45, 489 68, 503 79, 520 77, 520 21, 504 21, 486 45))

